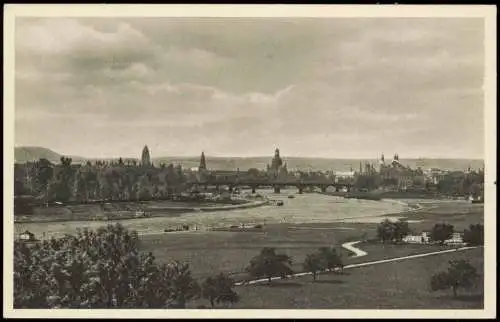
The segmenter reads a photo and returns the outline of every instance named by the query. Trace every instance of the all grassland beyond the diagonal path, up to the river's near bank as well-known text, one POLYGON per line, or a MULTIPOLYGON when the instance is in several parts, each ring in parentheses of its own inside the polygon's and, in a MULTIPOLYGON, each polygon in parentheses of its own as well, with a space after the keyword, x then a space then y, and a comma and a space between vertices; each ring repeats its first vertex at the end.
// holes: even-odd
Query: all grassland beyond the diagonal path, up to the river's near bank
MULTIPOLYGON (((443 221, 453 224, 457 231, 471 223, 483 222, 482 205, 436 202, 426 206, 433 208, 408 215, 411 220, 424 220, 410 224, 415 231, 429 230, 435 223, 443 221)), ((437 245, 358 244, 357 247, 368 252, 368 255, 359 258, 350 257, 350 252, 341 248, 346 241, 376 237, 376 227, 376 224, 361 223, 274 224, 267 225, 262 232, 165 233, 142 236, 141 250, 153 252, 160 262, 186 261, 197 277, 224 272, 240 279, 246 277, 242 274, 245 267, 263 247, 275 247, 277 252, 291 256, 294 262, 292 268, 296 271, 302 271, 302 262, 308 253, 322 246, 337 247, 346 264, 446 248, 437 245)))

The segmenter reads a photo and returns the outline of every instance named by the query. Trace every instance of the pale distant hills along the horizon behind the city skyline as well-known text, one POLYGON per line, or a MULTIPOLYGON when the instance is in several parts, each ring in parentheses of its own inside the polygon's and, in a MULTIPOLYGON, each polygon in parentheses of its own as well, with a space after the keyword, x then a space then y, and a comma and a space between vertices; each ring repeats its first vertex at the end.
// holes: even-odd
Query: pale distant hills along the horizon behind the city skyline
MULTIPOLYGON (((95 161, 96 158, 83 158, 78 156, 69 156, 74 163, 84 162, 86 160, 95 161)), ((46 158, 51 162, 59 162, 61 154, 43 147, 16 147, 15 162, 24 163, 26 161, 39 160, 46 158)), ((375 159, 323 159, 323 158, 299 158, 282 156, 287 163, 289 170, 335 170, 349 171, 358 170, 361 163, 369 162, 378 164, 375 159)), ((132 158, 123 158, 124 160, 132 160, 132 158)), ((213 157, 206 156, 207 167, 213 170, 236 170, 246 171, 250 168, 265 169, 266 165, 271 162, 272 156, 269 157, 213 157)), ((107 158, 104 161, 118 160, 118 158, 107 158)), ((135 159, 139 160, 139 159, 135 159)), ((390 162, 390 160, 387 160, 390 162)), ((483 167, 483 160, 474 159, 400 159, 404 165, 411 168, 421 167, 422 169, 439 168, 446 170, 466 170, 469 166, 472 169, 483 167)), ((184 168, 195 168, 200 163, 200 157, 157 157, 153 158, 153 163, 159 165, 165 164, 182 164, 184 168)))

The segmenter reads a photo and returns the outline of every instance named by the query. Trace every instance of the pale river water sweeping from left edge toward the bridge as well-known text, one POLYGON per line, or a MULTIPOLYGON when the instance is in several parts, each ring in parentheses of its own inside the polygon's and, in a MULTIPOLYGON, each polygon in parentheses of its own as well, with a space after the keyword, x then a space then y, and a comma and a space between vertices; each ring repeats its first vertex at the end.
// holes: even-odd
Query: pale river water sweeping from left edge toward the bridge
MULTIPOLYGON (((379 216, 409 209, 407 205, 398 201, 344 199, 315 193, 299 195, 296 192, 296 189, 282 190, 281 194, 274 194, 271 190, 259 191, 270 199, 283 200, 283 206, 191 212, 176 216, 165 214, 165 217, 125 219, 119 222, 128 229, 137 230, 139 234, 154 234, 163 232, 165 228, 175 228, 183 224, 204 230, 241 224, 379 222, 379 216), (292 194, 295 198, 288 198, 288 195, 292 194)), ((73 234, 78 229, 96 229, 103 225, 106 225, 106 222, 16 223, 15 234, 29 230, 37 237, 57 237, 66 233, 73 234)))

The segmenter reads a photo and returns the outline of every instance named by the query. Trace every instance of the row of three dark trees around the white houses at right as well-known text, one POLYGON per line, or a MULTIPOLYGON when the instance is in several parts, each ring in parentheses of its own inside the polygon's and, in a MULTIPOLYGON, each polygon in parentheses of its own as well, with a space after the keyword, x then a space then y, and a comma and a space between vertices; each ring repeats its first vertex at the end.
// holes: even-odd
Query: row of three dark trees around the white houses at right
MULTIPOLYGON (((432 227, 429 233, 431 241, 444 244, 446 240, 453 237, 455 227, 447 223, 437 223, 432 227)), ((401 242, 403 238, 411 233, 411 229, 407 221, 398 220, 390 221, 386 219, 377 226, 377 237, 383 243, 401 242)), ((469 245, 484 244, 484 225, 472 224, 468 229, 463 231, 463 241, 469 245)))

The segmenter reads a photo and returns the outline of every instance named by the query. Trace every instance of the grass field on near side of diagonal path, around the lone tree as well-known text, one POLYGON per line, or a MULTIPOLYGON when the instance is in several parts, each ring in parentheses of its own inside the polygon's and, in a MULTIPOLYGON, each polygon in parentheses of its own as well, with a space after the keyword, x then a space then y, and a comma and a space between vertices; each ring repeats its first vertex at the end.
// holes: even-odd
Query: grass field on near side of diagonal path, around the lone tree
MULTIPOLYGON (((348 269, 344 275, 322 274, 236 287, 239 309, 482 309, 483 285, 470 291, 430 291, 431 277, 453 259, 469 259, 483 272, 483 250, 473 249, 400 262, 348 269)), ((193 306, 207 305, 203 300, 193 306)))

